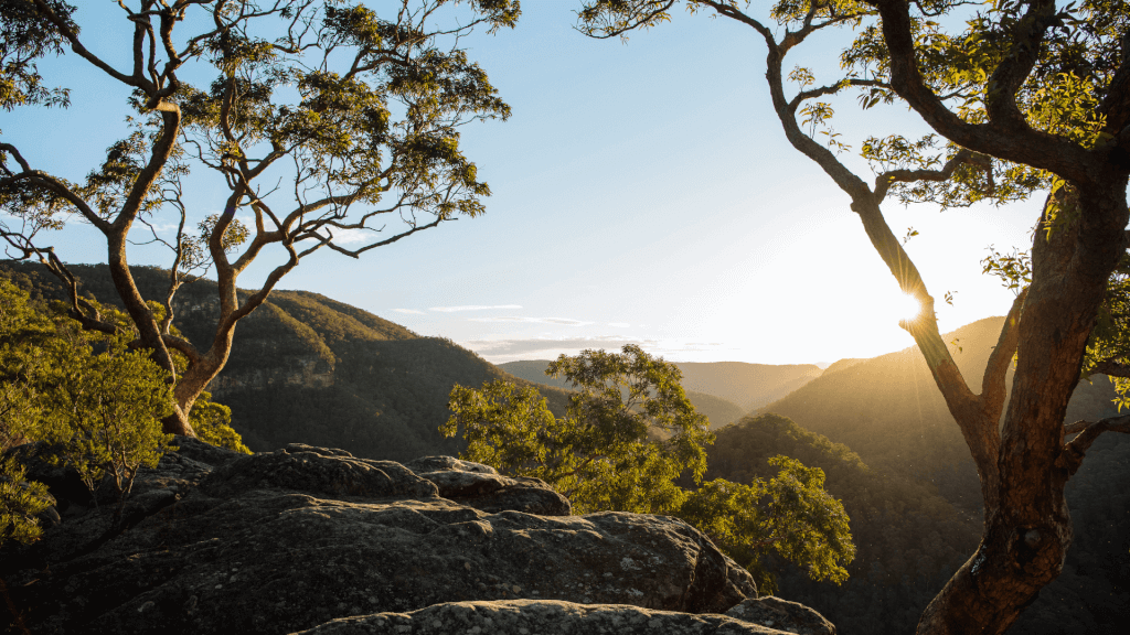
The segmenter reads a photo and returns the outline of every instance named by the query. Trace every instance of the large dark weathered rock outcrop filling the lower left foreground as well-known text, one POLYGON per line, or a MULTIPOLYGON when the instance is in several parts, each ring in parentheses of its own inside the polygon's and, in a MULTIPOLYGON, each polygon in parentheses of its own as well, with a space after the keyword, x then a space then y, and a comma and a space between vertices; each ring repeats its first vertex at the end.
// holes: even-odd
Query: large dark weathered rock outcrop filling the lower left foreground
POLYGON ((676 519, 572 516, 537 479, 446 456, 175 444, 123 505, 62 501, 43 540, 0 554, 16 632, 449 633, 553 616, 585 633, 773 632, 688 615, 745 606, 756 589, 676 519), (470 626, 435 626, 454 619, 470 626))

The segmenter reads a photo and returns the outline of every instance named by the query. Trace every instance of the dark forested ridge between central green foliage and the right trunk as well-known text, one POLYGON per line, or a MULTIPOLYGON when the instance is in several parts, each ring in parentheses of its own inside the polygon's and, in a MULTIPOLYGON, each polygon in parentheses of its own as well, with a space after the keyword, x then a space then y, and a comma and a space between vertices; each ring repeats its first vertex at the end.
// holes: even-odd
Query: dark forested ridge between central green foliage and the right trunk
POLYGON ((779 565, 782 598, 803 602, 845 635, 912 633, 927 602, 976 548, 980 522, 931 485, 866 466, 843 444, 776 415, 745 417, 718 430, 707 449, 706 479, 771 478, 768 459, 784 454, 824 470, 825 489, 843 502, 855 542, 842 586, 808 580, 779 565))

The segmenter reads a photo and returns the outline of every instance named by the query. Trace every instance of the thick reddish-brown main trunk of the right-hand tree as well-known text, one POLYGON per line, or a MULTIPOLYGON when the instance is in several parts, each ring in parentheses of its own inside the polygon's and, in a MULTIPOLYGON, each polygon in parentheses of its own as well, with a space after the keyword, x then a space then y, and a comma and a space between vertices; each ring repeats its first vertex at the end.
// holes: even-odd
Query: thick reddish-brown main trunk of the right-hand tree
POLYGON ((922 635, 1003 633, 1063 568, 1072 538, 1063 490, 1077 466, 1064 456, 1063 418, 1107 279, 1127 249, 1124 190, 1092 186, 1078 206, 1069 226, 1035 233, 999 480, 985 484, 982 473, 984 533, 922 615, 922 635))

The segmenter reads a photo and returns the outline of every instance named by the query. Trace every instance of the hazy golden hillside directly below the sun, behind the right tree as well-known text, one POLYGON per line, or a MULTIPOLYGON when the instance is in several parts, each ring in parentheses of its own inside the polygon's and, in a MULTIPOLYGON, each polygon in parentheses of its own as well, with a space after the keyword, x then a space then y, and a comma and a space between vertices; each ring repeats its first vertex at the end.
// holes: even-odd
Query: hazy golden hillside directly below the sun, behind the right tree
MULTIPOLYGON (((965 381, 981 392, 981 375, 1003 318, 986 318, 942 336, 965 381)), ((1116 412, 1103 376, 1080 382, 1068 419, 1116 412)), ((788 397, 759 410, 845 443, 869 466, 933 480, 942 494, 980 510, 976 472, 960 430, 933 384, 918 347, 870 359, 841 360, 788 397)))

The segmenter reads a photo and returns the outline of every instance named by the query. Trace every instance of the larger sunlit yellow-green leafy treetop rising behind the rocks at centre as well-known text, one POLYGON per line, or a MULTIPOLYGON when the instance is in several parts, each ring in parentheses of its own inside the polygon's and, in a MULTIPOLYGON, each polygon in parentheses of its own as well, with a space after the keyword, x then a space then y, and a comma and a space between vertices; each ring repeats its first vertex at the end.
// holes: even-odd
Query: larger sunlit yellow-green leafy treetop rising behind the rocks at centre
POLYGON ((582 513, 673 512, 684 497, 673 480, 684 470, 701 480, 703 446, 713 441, 678 384, 678 368, 628 345, 620 355, 563 355, 547 373, 580 389, 564 417, 554 417, 533 389, 455 386, 443 434, 463 429, 469 460, 540 478, 582 513))

